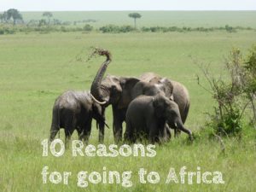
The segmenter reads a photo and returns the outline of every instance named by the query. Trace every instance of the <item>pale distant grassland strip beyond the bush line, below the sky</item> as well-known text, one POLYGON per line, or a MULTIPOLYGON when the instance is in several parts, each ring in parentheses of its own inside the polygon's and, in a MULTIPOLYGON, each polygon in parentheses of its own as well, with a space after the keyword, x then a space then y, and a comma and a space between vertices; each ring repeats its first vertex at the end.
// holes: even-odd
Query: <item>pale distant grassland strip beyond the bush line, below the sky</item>
MULTIPOLYGON (((128 17, 134 11, 76 11, 52 12, 53 18, 61 21, 96 20, 90 25, 99 27, 108 24, 131 25, 133 19, 128 17)), ((256 27, 253 18, 255 11, 137 11, 142 15, 137 20, 137 26, 251 26, 256 27)), ((43 12, 23 12, 24 20, 39 20, 43 12)), ((44 18, 45 19, 45 18, 44 18)), ((84 24, 85 25, 85 24, 84 24)))

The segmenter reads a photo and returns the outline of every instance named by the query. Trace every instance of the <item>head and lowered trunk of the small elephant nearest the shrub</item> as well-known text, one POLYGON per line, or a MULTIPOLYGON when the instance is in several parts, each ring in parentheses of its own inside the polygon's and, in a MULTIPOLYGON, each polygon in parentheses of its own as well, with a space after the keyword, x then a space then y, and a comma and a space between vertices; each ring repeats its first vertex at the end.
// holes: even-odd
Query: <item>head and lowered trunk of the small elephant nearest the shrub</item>
POLYGON ((162 95, 154 96, 153 98, 155 115, 158 118, 166 119, 170 127, 175 127, 177 130, 186 132, 192 139, 192 132, 183 125, 177 103, 162 95))

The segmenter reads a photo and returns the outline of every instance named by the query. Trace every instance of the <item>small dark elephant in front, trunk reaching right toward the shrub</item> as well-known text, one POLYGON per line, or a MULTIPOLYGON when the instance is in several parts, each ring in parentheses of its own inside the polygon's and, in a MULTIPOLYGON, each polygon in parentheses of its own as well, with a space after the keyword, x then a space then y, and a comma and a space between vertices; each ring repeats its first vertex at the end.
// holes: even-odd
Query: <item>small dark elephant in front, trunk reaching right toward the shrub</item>
POLYGON ((183 126, 177 103, 161 94, 137 96, 127 108, 125 122, 128 143, 135 143, 140 137, 145 137, 149 143, 166 141, 166 122, 192 139, 192 132, 183 126))

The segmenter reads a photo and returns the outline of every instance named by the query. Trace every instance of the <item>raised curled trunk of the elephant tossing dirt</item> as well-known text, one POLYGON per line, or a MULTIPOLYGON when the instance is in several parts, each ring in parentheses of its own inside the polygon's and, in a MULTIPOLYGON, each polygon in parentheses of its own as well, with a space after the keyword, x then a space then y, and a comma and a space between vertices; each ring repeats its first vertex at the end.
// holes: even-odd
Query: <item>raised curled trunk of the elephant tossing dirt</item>
POLYGON ((93 96, 93 98, 96 98, 96 100, 106 102, 106 98, 104 100, 106 91, 101 88, 101 84, 102 84, 104 73, 106 72, 108 68, 108 64, 111 61, 111 55, 108 52, 108 50, 97 49, 96 51, 99 55, 106 55, 107 60, 102 63, 102 66, 99 68, 98 72, 96 73, 96 77, 90 86, 90 94, 93 96))

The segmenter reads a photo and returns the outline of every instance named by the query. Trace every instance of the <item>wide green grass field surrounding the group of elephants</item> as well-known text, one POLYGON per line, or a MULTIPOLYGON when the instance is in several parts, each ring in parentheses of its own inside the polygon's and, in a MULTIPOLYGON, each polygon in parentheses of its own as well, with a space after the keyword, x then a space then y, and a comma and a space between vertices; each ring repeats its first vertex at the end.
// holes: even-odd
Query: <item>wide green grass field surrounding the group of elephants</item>
MULTIPOLYGON (((187 14, 180 18, 188 18, 187 14)), ((247 14, 255 15, 255 12, 247 14)), ((146 17, 146 13, 143 15, 146 17)), ((91 19, 97 19, 96 15, 92 16, 91 19)), ((131 21, 128 17, 125 20, 131 21)), ((163 25, 170 21, 162 20, 163 25)), ((201 26, 212 23, 213 19, 211 16, 204 20, 209 21, 191 17, 184 23, 185 26, 201 26)), ((234 22, 237 26, 256 26, 251 17, 241 24, 237 20, 234 22)), ((216 18, 217 26, 225 24, 232 26, 232 23, 216 18)), ((145 72, 154 72, 185 84, 191 98, 185 125, 192 131, 198 131, 204 126, 205 113, 212 110, 214 102, 197 84, 196 74, 203 75, 195 61, 211 63, 212 73, 218 75, 223 73, 224 58, 233 47, 246 54, 253 43, 256 43, 255 31, 0 35, 0 191, 255 191, 256 135, 250 127, 244 127, 239 141, 224 139, 224 154, 218 142, 202 138, 188 144, 184 134, 170 143, 157 146, 154 158, 73 157, 71 149, 59 158, 52 155, 42 157, 40 144, 49 137, 55 98, 65 90, 90 89, 96 70, 105 59, 97 57, 85 62, 90 55, 90 46, 112 52, 113 61, 107 73, 138 77, 145 72), (41 172, 44 166, 49 166, 49 172, 72 172, 69 184, 43 184, 41 172), (127 189, 121 184, 89 184, 86 189, 77 186, 76 174, 79 171, 102 172, 103 166, 107 171, 131 171, 133 186, 127 189), (197 166, 201 167, 201 172, 222 172, 225 183, 166 184, 170 167, 178 173, 182 166, 187 166, 189 172, 196 172, 197 166), (137 172, 141 167, 148 172, 159 172, 160 183, 139 183, 137 172)), ((111 127, 111 108, 108 108, 107 120, 111 127)), ((64 138, 63 131, 61 138, 64 138)), ((73 139, 76 138, 74 133, 73 139)), ((90 143, 97 144, 95 124, 90 143)), ((111 143, 112 130, 106 129, 105 144, 111 143)))

